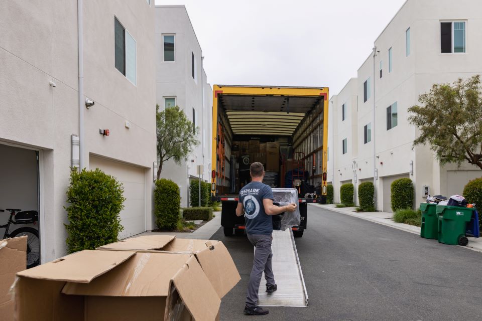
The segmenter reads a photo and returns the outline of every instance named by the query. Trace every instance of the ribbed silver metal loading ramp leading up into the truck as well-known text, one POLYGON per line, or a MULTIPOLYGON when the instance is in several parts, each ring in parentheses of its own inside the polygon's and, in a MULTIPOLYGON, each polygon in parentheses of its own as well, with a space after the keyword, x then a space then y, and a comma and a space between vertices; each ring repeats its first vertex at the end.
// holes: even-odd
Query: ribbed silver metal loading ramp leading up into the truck
POLYGON ((291 229, 273 231, 271 251, 273 252, 273 273, 278 290, 267 294, 263 273, 258 291, 258 305, 308 306, 308 293, 291 229))

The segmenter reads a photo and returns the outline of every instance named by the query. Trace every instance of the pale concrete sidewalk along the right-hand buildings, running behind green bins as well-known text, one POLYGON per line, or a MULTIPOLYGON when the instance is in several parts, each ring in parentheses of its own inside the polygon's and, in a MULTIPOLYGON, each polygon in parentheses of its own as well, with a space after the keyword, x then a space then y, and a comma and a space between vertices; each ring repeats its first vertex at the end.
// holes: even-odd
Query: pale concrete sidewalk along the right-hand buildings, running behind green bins
MULTIPOLYGON (((396 223, 393 221, 393 213, 387 212, 356 212, 355 207, 344 207, 344 208, 337 208, 334 204, 309 204, 311 206, 316 206, 320 208, 324 208, 326 210, 330 210, 333 212, 354 216, 363 220, 371 221, 374 223, 382 224, 385 226, 393 227, 405 232, 413 233, 420 235, 420 227, 413 226, 404 223, 396 223)), ((437 240, 434 240, 435 242, 437 240)), ((441 245, 445 245, 440 243, 441 245)), ((458 246, 458 245, 456 245, 458 246)), ((467 246, 460 246, 463 248, 467 248, 473 251, 482 252, 482 238, 475 238, 469 237, 468 238, 468 245, 467 246)))

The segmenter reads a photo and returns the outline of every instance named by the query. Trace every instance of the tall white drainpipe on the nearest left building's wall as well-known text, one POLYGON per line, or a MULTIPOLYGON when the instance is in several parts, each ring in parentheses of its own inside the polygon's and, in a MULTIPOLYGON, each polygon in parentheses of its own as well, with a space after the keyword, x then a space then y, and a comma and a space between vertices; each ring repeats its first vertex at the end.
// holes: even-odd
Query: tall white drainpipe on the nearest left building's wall
POLYGON ((84 42, 83 42, 83 1, 77 0, 77 38, 79 51, 79 139, 80 139, 80 170, 85 168, 84 159, 84 42))

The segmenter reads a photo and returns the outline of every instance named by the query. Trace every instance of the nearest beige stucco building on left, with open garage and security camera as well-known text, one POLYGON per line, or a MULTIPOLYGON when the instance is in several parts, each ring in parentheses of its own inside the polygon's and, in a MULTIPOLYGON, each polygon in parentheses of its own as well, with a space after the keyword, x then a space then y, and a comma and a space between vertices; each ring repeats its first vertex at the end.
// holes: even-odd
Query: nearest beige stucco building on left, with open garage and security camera
POLYGON ((0 21, 0 208, 39 211, 51 261, 66 254, 70 168, 99 168, 124 185, 119 237, 152 230, 154 6, 3 1, 0 21))

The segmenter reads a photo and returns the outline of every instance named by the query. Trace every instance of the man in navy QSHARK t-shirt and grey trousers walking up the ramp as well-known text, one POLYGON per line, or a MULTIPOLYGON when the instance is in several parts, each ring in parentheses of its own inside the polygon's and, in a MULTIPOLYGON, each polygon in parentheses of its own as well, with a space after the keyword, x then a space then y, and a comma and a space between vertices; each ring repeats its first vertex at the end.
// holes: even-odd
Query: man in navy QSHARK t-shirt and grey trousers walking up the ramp
POLYGON ((273 275, 271 264, 271 241, 273 240, 272 215, 284 212, 294 212, 296 204, 276 206, 273 204, 273 191, 271 187, 263 184, 265 168, 261 163, 253 163, 250 167, 251 183, 239 191, 239 203, 236 215, 245 215, 246 233, 251 244, 256 247, 251 270, 248 294, 246 296, 245 314, 268 314, 268 309, 258 306, 258 290, 260 288, 263 271, 266 278, 266 292, 273 293, 278 289, 273 275))

